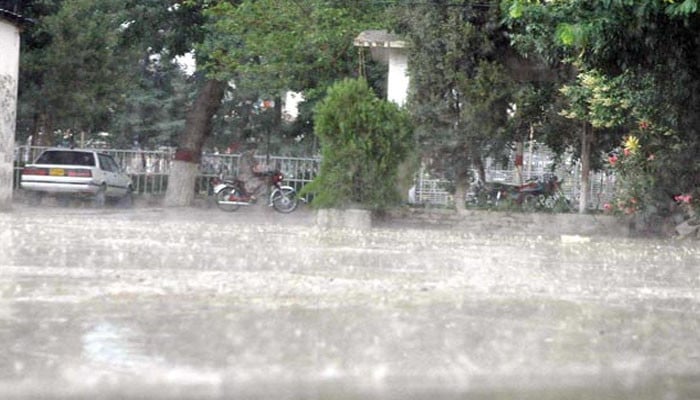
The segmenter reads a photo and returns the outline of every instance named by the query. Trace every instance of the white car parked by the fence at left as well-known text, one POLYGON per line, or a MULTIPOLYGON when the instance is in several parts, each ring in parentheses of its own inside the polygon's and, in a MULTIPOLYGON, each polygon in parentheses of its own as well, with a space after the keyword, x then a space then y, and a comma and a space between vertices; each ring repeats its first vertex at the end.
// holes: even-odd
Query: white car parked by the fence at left
POLYGON ((97 207, 104 206, 107 199, 117 199, 127 207, 133 203, 131 177, 112 156, 92 150, 44 150, 24 167, 20 186, 31 193, 35 204, 46 194, 88 197, 97 207))

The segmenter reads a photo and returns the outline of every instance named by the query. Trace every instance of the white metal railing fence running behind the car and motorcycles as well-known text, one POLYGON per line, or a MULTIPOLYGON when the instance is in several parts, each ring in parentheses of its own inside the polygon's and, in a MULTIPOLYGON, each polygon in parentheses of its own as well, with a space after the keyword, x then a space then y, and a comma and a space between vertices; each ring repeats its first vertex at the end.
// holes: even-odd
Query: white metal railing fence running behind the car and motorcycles
MULTIPOLYGON (((34 160, 43 147, 18 146, 15 149, 14 187, 19 187, 19 178, 23 165, 34 160)), ((167 190, 168 174, 170 173, 170 161, 174 151, 164 150, 100 150, 112 155, 119 166, 131 176, 134 191, 138 194, 162 195, 167 190)), ((285 184, 299 190, 311 182, 319 170, 321 159, 319 157, 283 157, 283 156, 256 156, 260 161, 268 165, 274 165, 285 174, 285 184)), ((200 164, 199 175, 196 180, 196 190, 201 194, 211 193, 212 178, 219 175, 235 176, 239 171, 240 154, 214 154, 204 153, 200 164)), ((528 168, 518 176, 515 168, 495 169, 486 171, 487 181, 497 181, 515 184, 519 180, 527 180, 531 177, 542 176, 552 171, 545 170, 543 166, 528 168)), ((574 203, 578 202, 581 185, 580 169, 577 166, 560 168, 553 171, 560 179, 563 179, 562 189, 564 194, 574 203)), ((476 172, 473 171, 476 176, 476 172)), ((600 209, 603 204, 610 201, 613 195, 615 177, 604 172, 594 173, 590 176, 589 208, 600 209)), ((424 170, 419 171, 414 178, 414 186, 406 194, 408 202, 420 205, 451 206, 454 204, 454 184, 448 179, 436 179, 424 170)))

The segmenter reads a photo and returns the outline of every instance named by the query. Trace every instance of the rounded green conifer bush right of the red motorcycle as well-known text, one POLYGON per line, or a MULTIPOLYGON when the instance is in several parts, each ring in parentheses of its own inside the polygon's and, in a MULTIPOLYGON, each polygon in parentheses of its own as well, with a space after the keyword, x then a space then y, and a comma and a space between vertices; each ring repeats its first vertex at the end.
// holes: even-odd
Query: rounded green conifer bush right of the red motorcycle
POLYGON ((405 111, 377 98, 364 79, 345 79, 317 106, 315 133, 323 162, 303 190, 315 207, 379 210, 399 200, 398 167, 413 147, 405 111))

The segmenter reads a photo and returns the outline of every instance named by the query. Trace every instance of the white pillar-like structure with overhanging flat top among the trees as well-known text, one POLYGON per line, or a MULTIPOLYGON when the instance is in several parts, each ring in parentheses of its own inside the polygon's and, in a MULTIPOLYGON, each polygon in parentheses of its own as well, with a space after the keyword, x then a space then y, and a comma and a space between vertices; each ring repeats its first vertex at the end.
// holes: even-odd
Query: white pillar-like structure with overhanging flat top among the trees
POLYGON ((354 44, 369 48, 372 58, 389 65, 386 98, 399 106, 406 104, 409 84, 406 42, 387 31, 364 31, 354 44))

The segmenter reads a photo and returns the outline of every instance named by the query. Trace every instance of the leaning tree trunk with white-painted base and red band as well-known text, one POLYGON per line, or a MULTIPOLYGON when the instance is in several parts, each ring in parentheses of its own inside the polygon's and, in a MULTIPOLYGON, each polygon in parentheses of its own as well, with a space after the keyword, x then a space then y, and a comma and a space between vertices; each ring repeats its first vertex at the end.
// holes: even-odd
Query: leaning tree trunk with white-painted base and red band
POLYGON ((185 132, 171 162, 163 205, 184 207, 194 200, 194 187, 202 158, 202 146, 211 133, 212 118, 221 105, 227 83, 209 79, 187 113, 185 132))

